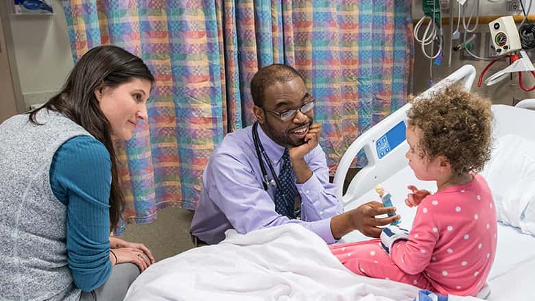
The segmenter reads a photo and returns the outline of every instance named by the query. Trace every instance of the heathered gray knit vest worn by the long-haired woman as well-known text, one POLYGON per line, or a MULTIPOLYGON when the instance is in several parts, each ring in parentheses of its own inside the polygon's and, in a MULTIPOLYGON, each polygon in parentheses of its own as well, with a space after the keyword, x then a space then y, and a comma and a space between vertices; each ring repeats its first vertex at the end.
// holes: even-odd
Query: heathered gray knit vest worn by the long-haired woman
POLYGON ((46 109, 37 121, 45 124, 18 115, 0 125, 0 300, 78 300, 67 266, 67 207, 49 171, 63 143, 91 135, 46 109))

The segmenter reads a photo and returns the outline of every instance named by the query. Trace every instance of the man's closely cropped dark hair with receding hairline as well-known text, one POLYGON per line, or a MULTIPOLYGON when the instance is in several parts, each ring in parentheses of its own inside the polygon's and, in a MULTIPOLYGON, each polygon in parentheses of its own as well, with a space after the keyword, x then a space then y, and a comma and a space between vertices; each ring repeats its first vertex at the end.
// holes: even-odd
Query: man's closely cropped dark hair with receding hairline
POLYGON ((285 64, 271 64, 263 67, 255 73, 251 79, 251 96, 254 105, 263 108, 264 90, 272 84, 283 84, 300 77, 303 82, 305 79, 294 67, 285 64))

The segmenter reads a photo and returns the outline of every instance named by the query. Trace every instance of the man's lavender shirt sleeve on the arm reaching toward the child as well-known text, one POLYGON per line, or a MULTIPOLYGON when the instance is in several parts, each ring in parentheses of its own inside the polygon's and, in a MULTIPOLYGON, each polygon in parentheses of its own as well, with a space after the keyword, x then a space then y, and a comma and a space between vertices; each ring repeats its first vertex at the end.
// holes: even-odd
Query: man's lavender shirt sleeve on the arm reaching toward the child
POLYGON ((318 234, 326 243, 335 239, 331 232, 331 218, 316 221, 289 219, 276 213, 269 193, 254 176, 247 158, 215 154, 209 164, 209 197, 226 215, 239 233, 283 224, 301 224, 318 234))

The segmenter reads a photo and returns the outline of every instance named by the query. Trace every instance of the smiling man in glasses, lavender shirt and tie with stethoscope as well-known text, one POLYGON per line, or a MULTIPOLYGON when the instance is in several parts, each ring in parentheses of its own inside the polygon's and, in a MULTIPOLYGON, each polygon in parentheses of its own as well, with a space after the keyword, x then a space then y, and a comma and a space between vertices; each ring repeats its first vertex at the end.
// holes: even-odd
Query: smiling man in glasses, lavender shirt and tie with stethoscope
POLYGON ((198 245, 219 243, 228 229, 244 234, 289 223, 334 243, 352 230, 379 237, 378 226, 399 219, 375 218, 395 211, 379 202, 342 213, 318 145, 316 100, 294 68, 264 67, 252 77, 250 88, 257 122, 227 134, 202 175, 201 197, 191 221, 198 245))

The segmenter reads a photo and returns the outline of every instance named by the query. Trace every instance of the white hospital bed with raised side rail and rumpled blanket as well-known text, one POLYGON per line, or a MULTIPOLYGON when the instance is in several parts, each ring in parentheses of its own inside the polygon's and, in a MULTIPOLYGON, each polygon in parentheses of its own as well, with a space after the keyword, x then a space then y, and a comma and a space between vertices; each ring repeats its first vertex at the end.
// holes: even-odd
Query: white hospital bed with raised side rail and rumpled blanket
MULTIPOLYGON (((430 91, 451 82, 467 89, 475 69, 465 66, 442 80, 430 91)), ((525 103, 526 104, 526 103, 525 103)), ((410 228, 414 208, 403 200, 407 184, 433 191, 431 182, 418 181, 407 166, 405 152, 406 112, 410 104, 362 134, 344 154, 335 174, 335 184, 346 210, 377 200, 374 188, 381 183, 392 194, 401 214, 402 226, 410 228), (342 186, 355 156, 364 149, 368 165, 351 180, 347 192, 342 186)), ((531 127, 535 111, 510 106, 493 106, 495 137, 508 133, 535 140, 531 127)), ((535 154, 535 147, 531 150, 535 154)), ((492 187, 491 187, 492 189, 492 187)), ((494 193, 494 191, 493 191, 494 193)), ((534 204, 535 206, 535 204, 534 204)), ((512 226, 499 225, 495 263, 488 278, 488 300, 531 300, 535 281, 535 237, 512 226)), ((361 241, 357 231, 342 241, 361 241)), ((152 265, 132 284, 125 300, 413 300, 418 288, 349 272, 316 234, 289 224, 237 234, 226 232, 217 245, 195 248, 152 265)), ((479 300, 450 296, 453 300, 479 300)))

